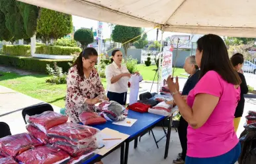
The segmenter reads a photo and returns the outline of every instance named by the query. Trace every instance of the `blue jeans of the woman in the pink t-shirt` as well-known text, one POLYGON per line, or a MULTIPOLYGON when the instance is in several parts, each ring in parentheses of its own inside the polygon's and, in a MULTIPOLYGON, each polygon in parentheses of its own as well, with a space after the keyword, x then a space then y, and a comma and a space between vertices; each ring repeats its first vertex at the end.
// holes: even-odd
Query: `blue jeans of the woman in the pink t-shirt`
POLYGON ((233 148, 217 157, 207 157, 207 158, 197 158, 197 157, 186 157, 185 164, 234 164, 241 153, 241 144, 240 142, 233 148))

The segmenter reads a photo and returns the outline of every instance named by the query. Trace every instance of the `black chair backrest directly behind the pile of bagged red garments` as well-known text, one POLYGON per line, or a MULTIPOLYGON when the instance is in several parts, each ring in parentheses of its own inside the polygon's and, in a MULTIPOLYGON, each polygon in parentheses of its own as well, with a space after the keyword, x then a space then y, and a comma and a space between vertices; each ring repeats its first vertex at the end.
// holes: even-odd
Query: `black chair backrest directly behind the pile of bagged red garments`
POLYGON ((26 124, 26 115, 32 116, 32 115, 39 115, 41 113, 44 113, 45 111, 54 111, 54 109, 52 108, 52 105, 50 105, 49 103, 43 103, 40 105, 32 105, 30 107, 25 107, 22 110, 22 117, 24 119, 24 122, 26 124))

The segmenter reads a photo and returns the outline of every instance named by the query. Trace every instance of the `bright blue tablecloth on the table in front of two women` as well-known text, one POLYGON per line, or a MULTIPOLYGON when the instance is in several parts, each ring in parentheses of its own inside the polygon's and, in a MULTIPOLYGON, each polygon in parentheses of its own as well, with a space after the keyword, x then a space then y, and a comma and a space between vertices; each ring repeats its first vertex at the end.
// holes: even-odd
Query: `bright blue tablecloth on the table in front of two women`
POLYGON ((162 115, 155 115, 152 113, 138 113, 132 110, 128 111, 128 118, 137 119, 137 121, 130 127, 112 124, 111 121, 107 121, 107 123, 105 124, 98 124, 93 127, 99 128, 100 130, 103 130, 104 128, 111 128, 113 130, 117 130, 118 132, 122 132, 124 134, 130 135, 129 138, 133 138, 140 132, 143 132, 144 130, 146 130, 146 128, 149 128, 150 126, 152 126, 152 124, 155 124, 165 119, 165 117, 162 115))

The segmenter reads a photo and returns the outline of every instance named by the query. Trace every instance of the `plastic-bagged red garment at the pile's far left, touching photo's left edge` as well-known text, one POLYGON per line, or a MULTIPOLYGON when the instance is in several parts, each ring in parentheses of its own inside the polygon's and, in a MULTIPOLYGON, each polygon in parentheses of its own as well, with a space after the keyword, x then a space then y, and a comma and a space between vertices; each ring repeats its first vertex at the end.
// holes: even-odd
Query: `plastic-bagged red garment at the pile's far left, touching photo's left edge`
POLYGON ((37 146, 42 146, 42 143, 27 133, 0 138, 1 150, 11 157, 15 157, 19 153, 37 146))

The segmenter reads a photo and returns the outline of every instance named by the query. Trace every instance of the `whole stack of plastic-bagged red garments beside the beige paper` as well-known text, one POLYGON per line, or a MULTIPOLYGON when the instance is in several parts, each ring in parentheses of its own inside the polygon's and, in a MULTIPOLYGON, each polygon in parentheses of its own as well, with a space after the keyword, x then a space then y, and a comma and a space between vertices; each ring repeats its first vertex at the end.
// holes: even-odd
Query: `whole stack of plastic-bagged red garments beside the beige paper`
POLYGON ((50 128, 50 144, 67 151, 72 157, 90 153, 98 148, 98 129, 76 123, 64 123, 50 128))

